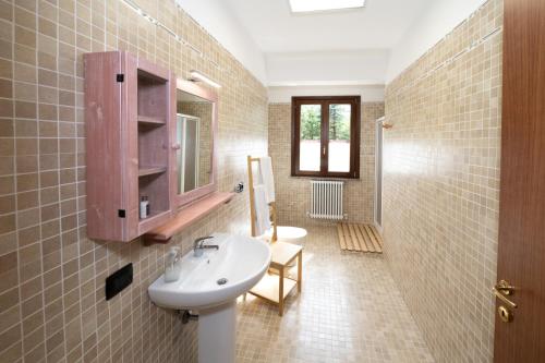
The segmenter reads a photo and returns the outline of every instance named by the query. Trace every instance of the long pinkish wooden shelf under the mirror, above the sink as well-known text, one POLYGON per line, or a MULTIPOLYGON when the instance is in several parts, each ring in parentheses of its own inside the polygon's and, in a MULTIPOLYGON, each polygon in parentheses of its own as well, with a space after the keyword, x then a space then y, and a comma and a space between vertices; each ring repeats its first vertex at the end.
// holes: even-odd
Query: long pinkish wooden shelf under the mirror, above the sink
POLYGON ((234 193, 211 193, 182 208, 172 219, 144 234, 146 244, 168 243, 175 233, 193 225, 220 205, 229 203, 234 193))

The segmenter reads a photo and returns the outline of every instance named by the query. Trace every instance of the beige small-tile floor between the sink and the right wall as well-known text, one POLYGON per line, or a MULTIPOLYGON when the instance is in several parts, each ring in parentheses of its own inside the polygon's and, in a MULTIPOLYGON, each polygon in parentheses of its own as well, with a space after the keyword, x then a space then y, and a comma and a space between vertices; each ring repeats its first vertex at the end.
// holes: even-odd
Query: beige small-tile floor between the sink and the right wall
POLYGON ((382 255, 341 252, 334 227, 308 228, 303 292, 284 316, 239 302, 242 362, 433 362, 382 255))

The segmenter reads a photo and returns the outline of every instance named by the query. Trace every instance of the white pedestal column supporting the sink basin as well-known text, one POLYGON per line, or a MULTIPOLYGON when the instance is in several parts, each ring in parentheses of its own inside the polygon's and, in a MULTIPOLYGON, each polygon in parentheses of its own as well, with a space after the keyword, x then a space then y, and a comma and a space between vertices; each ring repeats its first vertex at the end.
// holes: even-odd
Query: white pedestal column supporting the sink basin
POLYGON ((237 301, 198 312, 198 363, 234 363, 237 301))

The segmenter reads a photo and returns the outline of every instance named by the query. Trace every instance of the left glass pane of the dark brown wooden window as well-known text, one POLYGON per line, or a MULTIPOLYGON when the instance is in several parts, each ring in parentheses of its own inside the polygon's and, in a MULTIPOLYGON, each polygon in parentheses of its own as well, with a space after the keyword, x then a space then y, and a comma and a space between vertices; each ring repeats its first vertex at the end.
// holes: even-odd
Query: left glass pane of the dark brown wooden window
POLYGON ((302 171, 319 171, 320 130, 322 106, 301 105, 299 169, 302 171))

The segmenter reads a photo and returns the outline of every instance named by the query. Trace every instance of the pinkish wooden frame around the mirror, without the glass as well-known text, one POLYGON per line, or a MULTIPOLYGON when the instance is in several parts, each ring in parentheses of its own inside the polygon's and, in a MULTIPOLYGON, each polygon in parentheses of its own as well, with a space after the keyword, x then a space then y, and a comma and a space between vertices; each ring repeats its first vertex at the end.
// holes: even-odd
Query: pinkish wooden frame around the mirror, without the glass
MULTIPOLYGON (((171 194, 172 194, 172 199, 174 201, 174 206, 177 209, 183 208, 184 206, 187 206, 189 204, 198 201, 208 194, 211 194, 218 190, 218 172, 217 172, 217 161, 218 161, 218 155, 217 155, 217 134, 218 134, 218 94, 215 89, 209 89, 205 88, 194 82, 185 81, 182 78, 177 80, 177 87, 175 92, 178 94, 178 90, 182 90, 189 94, 192 94, 194 96, 201 97, 203 99, 206 99, 213 104, 213 114, 211 114, 211 171, 210 171, 210 182, 206 185, 199 186, 197 189, 194 189, 192 191, 178 194, 178 173, 180 172, 178 170, 178 165, 175 162, 175 156, 172 157, 172 164, 171 164, 171 194)), ((177 109, 178 113, 178 97, 174 95, 174 108, 177 109)), ((172 148, 173 152, 178 152, 178 140, 177 140, 177 126, 178 126, 178 118, 174 118, 173 120, 173 125, 171 128, 171 137, 172 137, 172 148)))

